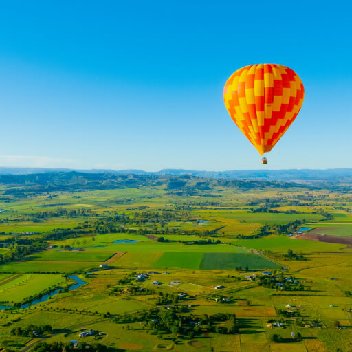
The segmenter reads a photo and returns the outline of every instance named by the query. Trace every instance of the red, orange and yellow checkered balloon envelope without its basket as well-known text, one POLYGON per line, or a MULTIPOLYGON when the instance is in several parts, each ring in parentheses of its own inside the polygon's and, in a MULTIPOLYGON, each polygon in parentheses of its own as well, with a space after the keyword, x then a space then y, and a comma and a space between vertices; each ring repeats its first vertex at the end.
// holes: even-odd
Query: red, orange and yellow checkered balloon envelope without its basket
POLYGON ((232 120, 261 155, 271 151, 294 122, 304 97, 298 74, 276 64, 243 67, 223 89, 232 120))

